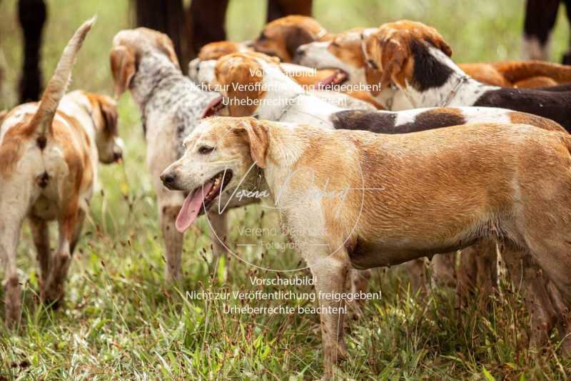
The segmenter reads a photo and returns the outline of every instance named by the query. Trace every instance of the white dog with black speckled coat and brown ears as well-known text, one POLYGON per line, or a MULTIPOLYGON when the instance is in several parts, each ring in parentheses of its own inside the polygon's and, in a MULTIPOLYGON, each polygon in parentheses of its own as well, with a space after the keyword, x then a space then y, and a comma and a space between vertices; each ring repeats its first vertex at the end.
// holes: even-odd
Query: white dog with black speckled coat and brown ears
MULTIPOLYGON (((184 76, 178 65, 171 39, 146 28, 119 31, 113 38, 110 54, 115 96, 131 91, 138 104, 147 142, 146 161, 153 177, 158 214, 166 244, 166 279, 181 277, 183 234, 177 229, 176 216, 185 194, 172 192, 158 176, 182 154, 183 137, 199 119, 213 114, 222 97, 203 91, 184 76)), ((226 222, 211 217, 218 237, 226 235, 226 222)), ((225 252, 214 242, 214 254, 225 252)))

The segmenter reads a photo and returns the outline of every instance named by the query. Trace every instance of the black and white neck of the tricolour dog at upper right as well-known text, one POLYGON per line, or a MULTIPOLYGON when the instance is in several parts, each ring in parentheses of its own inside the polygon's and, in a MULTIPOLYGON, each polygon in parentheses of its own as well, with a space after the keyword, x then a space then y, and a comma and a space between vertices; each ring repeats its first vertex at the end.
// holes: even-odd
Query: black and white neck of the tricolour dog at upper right
POLYGON ((499 89, 470 78, 440 49, 424 43, 411 49, 415 56, 412 79, 400 88, 415 108, 470 106, 485 91, 499 89))

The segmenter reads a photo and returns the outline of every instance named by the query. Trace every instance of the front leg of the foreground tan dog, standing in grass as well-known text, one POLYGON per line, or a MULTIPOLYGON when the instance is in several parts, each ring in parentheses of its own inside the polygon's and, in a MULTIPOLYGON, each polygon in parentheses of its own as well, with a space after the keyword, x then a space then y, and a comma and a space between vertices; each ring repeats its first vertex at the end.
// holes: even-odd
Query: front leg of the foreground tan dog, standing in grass
POLYGON ((345 280, 348 261, 335 254, 310 263, 315 277, 315 294, 320 307, 321 336, 323 338, 323 368, 325 378, 333 376, 333 366, 338 360, 347 358, 343 339, 343 317, 345 317, 345 280))

